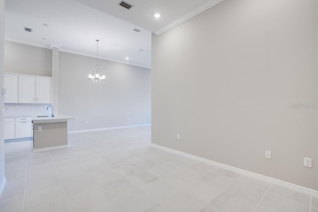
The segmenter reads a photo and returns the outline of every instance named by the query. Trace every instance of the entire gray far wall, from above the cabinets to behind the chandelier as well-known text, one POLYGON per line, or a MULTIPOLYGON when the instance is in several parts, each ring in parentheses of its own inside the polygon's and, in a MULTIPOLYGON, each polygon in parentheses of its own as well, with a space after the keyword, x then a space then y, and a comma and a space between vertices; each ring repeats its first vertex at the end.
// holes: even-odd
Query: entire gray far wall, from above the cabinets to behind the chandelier
MULTIPOLYGON (((52 76, 52 50, 5 41, 4 65, 6 72, 52 76)), ((77 117, 69 131, 151 123, 151 70, 98 60, 107 77, 98 84, 88 81, 95 65, 96 58, 55 50, 54 111, 77 117)))

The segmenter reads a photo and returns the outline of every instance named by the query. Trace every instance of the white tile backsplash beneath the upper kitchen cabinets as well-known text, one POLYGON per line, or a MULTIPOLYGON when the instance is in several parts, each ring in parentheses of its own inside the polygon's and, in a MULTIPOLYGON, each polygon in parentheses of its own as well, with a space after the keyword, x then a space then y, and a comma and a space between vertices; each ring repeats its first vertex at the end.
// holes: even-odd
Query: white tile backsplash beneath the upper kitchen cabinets
POLYGON ((51 104, 4 104, 4 117, 51 115, 51 104))

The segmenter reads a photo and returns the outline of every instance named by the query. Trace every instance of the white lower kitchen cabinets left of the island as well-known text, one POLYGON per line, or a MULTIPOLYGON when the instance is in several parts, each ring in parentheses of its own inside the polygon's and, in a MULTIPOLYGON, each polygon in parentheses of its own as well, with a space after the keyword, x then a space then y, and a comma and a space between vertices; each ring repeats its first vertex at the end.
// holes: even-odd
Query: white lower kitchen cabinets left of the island
POLYGON ((33 137, 31 117, 4 118, 4 140, 33 137))

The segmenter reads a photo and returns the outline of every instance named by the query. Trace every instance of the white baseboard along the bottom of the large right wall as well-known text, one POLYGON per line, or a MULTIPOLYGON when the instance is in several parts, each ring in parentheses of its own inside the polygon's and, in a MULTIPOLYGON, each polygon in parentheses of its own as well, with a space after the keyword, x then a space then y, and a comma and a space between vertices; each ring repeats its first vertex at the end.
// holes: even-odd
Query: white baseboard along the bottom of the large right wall
POLYGON ((253 178, 258 179, 258 180, 266 181, 268 183, 272 183, 272 184, 275 184, 275 185, 278 185, 278 186, 281 186, 281 187, 284 187, 284 188, 287 188, 287 189, 291 189, 291 190, 294 190, 294 191, 297 191, 297 192, 301 192, 303 194, 307 194, 307 195, 310 195, 310 196, 318 198, 318 191, 313 190, 313 189, 309 189, 309 188, 306 188, 306 187, 303 187, 303 186, 299 186, 299 185, 296 185, 296 184, 288 183, 288 182, 285 182, 285 181, 282 181, 282 180, 278 180, 278 179, 275 179, 275 178, 267 177, 267 176, 264 176, 264 175, 261 175, 261 174, 257 174, 257 173, 254 173, 254 172, 250 172, 250 171, 246 171, 246 170, 243 170, 243 169, 239 169, 239 168, 236 168, 236 167, 233 167, 233 166, 229 166, 229 165, 226 165, 226 164, 218 163, 218 162, 215 162, 215 161, 212 161, 212 160, 208 160, 208 159, 205 159, 205 158, 201 158, 201 157, 198 157, 198 156, 195 156, 195 155, 191 155, 191 154, 188 154, 188 153, 185 153, 185 152, 180 152, 180 151, 177 151, 177 150, 174 150, 174 149, 170 149, 170 148, 167 148, 167 147, 164 147, 164 146, 160 146, 158 144, 152 143, 151 145, 156 147, 156 148, 159 148, 159 149, 162 149, 162 150, 165 150, 165 151, 168 151, 168 152, 172 152, 172 153, 180 155, 180 156, 184 156, 184 157, 187 157, 187 158, 190 158, 190 159, 194 159, 194 160, 198 160, 198 161, 201 161, 201 162, 204 162, 204 163, 208 163, 208 164, 214 165, 216 167, 220 167, 220 168, 223 168, 223 169, 227 169, 227 170, 239 173, 241 175, 245 175, 245 176, 248 176, 248 177, 253 177, 253 178))

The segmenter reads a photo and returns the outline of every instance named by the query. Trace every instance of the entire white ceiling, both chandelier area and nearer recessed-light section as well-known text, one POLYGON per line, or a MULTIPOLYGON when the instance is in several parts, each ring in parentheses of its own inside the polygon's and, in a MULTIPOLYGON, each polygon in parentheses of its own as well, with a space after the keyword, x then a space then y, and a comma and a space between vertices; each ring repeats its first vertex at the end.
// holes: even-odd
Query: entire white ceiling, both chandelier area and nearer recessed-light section
POLYGON ((134 6, 128 10, 120 0, 5 0, 5 40, 96 57, 99 39, 98 58, 151 68, 152 32, 160 34, 222 0, 125 1, 134 6))

